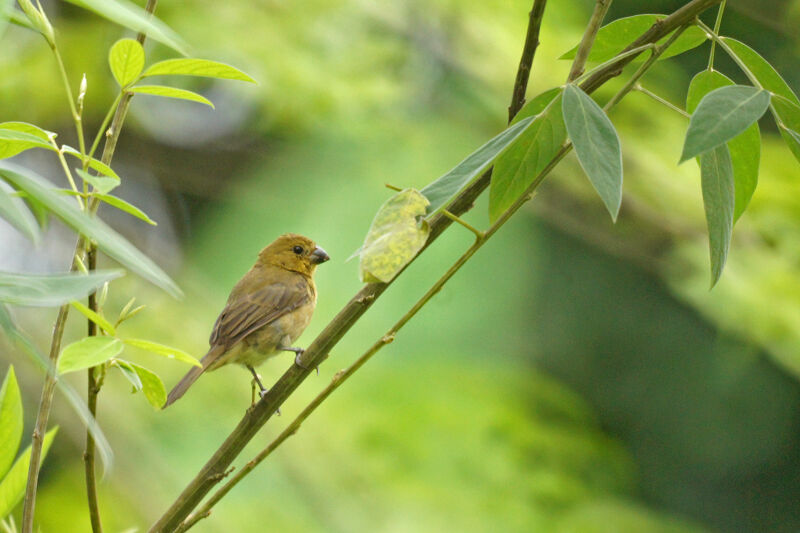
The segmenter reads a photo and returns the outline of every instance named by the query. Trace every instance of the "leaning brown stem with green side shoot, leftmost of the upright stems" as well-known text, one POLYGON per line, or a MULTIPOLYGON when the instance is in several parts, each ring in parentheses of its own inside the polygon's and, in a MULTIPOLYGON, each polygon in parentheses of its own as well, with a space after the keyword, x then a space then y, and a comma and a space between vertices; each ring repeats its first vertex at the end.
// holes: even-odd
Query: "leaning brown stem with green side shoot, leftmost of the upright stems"
MULTIPOLYGON (((148 0, 147 5, 145 6, 145 10, 148 13, 153 13, 156 8, 158 0, 148 0)), ((137 36, 137 40, 140 44, 144 43, 145 34, 140 33, 137 36)), ((67 90, 67 96, 69 98, 70 109, 72 110, 73 116, 77 115, 77 110, 75 109, 75 103, 72 98, 72 91, 69 88, 68 78, 66 75, 66 70, 64 69, 63 62, 60 60, 60 56, 58 55, 58 51, 54 48, 53 51, 56 53, 56 57, 58 57, 58 64, 59 69, 61 70, 62 78, 65 81, 65 87, 67 90)), ((114 155, 114 148, 116 147, 117 139, 119 138, 119 131, 122 127, 122 123, 125 120, 125 114, 127 112, 127 106, 130 102, 130 95, 127 95, 126 98, 122 98, 117 105, 116 113, 114 114, 114 121, 111 124, 111 134, 106 137, 106 144, 103 150, 103 163, 109 164, 111 162, 111 158, 114 155), (124 109, 121 109, 124 108, 124 109)), ((84 165, 88 165, 88 159, 86 159, 86 154, 83 148, 83 131, 79 128, 78 130, 78 138, 81 144, 81 155, 83 156, 83 163, 84 165)), ((89 202, 89 212, 94 212, 97 208, 97 204, 99 200, 93 199, 94 202, 89 202)), ((83 237, 78 238, 78 243, 75 246, 75 253, 73 255, 72 261, 72 270, 76 268, 76 261, 74 257, 82 257, 83 254, 87 251, 87 249, 92 249, 92 245, 86 242, 86 239, 83 237)), ((56 375, 55 375, 55 368, 58 363, 58 355, 61 351, 61 341, 64 337, 64 324, 67 321, 67 315, 69 314, 70 305, 63 305, 58 310, 58 316, 56 317, 56 323, 53 328, 53 336, 50 340, 50 367, 47 371, 45 376, 44 385, 42 386, 42 396, 39 401, 39 410, 36 414, 36 425, 33 430, 33 437, 31 440, 31 456, 30 456, 30 464, 28 466, 28 480, 25 486, 25 499, 23 502, 22 507, 22 529, 21 533, 33 533, 33 514, 34 509, 36 507, 36 490, 39 485, 39 468, 41 467, 42 461, 42 444, 44 433, 47 428, 47 421, 50 418, 50 408, 53 402, 53 394, 55 393, 55 384, 56 384, 56 375)))

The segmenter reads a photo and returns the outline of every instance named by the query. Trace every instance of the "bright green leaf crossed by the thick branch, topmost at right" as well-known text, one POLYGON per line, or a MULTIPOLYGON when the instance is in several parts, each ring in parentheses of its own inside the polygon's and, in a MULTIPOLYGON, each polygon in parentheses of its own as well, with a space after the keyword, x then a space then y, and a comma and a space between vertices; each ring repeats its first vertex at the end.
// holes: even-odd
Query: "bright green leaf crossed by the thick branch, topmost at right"
MULTIPOLYGON (((622 52, 633 41, 635 41, 641 34, 650 29, 650 26, 655 24, 661 19, 666 18, 666 15, 634 15, 632 17, 625 17, 609 22, 597 32, 592 50, 589 53, 588 61, 593 63, 602 63, 612 59, 614 56, 622 52)), ((658 41, 658 44, 663 44, 669 39, 669 35, 658 41)), ((658 58, 667 59, 669 57, 682 54, 687 50, 691 50, 703 44, 708 37, 705 32, 697 26, 691 26, 675 39, 675 42, 658 58)), ((559 59, 574 59, 578 47, 575 46, 572 50, 562 55, 559 59)), ((642 54, 636 61, 644 61, 647 54, 642 54)))

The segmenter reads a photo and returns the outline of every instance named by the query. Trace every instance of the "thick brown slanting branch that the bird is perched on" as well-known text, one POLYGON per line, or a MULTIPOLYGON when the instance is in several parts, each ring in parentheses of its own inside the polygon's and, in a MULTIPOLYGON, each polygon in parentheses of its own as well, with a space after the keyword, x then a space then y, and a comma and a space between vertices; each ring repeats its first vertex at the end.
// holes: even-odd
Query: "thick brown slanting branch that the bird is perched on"
MULTIPOLYGON (((720 0, 692 0, 688 2, 668 17, 653 24, 650 29, 631 43, 625 51, 649 42, 661 40, 676 28, 691 22, 699 13, 719 2, 720 0)), ((632 60, 633 56, 609 65, 603 71, 596 72, 581 84, 581 88, 588 93, 593 92, 605 82, 617 76, 621 68, 632 60)), ((563 148, 551 163, 555 164, 567 151, 567 147, 563 148)), ((488 173, 482 175, 474 184, 459 194, 447 206, 447 210, 457 216, 467 212, 472 208, 475 199, 488 187, 490 178, 491 175, 488 173)), ((527 200, 527 194, 523 195, 523 197, 524 200, 527 200)), ((435 242, 452 223, 444 215, 434 217, 430 221, 431 232, 428 241, 421 252, 435 242)), ((417 257, 419 257, 419 254, 417 257)), ((405 268, 408 268, 408 265, 405 268)), ((399 275, 395 276, 394 279, 398 277, 399 275)), ((391 282, 369 283, 350 299, 336 317, 328 323, 317 338, 306 348, 305 368, 292 364, 274 383, 270 391, 264 395, 264 398, 245 412, 245 415, 225 439, 225 442, 219 446, 197 475, 189 481, 169 509, 153 524, 150 528, 151 532, 172 532, 180 526, 202 501, 203 497, 224 477, 233 460, 273 416, 276 409, 313 372, 313 369, 325 360, 330 350, 336 346, 347 331, 390 286, 391 282)))

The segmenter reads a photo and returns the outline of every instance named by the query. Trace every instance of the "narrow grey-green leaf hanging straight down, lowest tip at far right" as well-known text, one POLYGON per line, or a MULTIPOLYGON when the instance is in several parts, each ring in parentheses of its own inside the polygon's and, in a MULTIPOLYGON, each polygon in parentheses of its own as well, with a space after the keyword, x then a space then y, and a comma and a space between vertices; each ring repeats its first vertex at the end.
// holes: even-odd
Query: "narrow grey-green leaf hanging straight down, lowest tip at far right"
POLYGON ((722 276, 722 269, 728 258, 728 248, 733 232, 733 210, 736 202, 733 164, 725 144, 700 156, 700 178, 708 225, 711 287, 713 288, 722 276))

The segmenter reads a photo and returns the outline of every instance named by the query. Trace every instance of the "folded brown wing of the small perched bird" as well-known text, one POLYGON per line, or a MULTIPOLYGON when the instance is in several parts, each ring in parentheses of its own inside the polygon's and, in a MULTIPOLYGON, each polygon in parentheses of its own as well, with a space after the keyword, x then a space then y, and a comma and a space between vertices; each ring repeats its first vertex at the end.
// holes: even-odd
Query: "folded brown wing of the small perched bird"
POLYGON ((211 332, 211 346, 230 347, 311 301, 305 280, 276 282, 229 301, 211 332))

